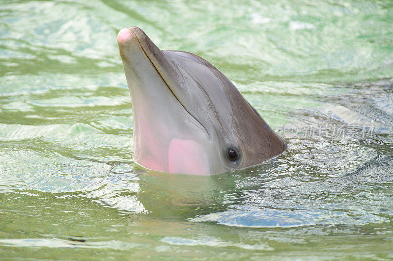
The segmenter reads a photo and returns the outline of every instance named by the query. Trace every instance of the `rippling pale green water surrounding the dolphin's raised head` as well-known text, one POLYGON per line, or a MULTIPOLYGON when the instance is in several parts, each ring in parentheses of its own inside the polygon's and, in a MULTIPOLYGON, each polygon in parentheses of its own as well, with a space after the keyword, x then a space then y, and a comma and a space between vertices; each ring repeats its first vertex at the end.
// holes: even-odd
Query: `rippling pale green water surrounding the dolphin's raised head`
POLYGON ((1 259, 393 259, 392 24, 388 0, 2 1, 1 259), (128 26, 304 135, 244 171, 139 169, 128 26))

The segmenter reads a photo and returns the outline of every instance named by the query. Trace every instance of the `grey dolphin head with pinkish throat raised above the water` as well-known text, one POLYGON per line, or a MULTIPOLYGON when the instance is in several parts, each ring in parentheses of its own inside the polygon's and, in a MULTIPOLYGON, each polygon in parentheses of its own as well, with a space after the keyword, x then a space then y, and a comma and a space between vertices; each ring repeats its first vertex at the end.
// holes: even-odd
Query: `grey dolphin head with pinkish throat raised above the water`
POLYGON ((117 44, 130 90, 134 159, 169 173, 211 175, 281 154, 285 141, 201 57, 161 51, 138 27, 117 44))

